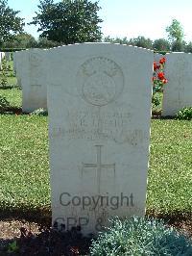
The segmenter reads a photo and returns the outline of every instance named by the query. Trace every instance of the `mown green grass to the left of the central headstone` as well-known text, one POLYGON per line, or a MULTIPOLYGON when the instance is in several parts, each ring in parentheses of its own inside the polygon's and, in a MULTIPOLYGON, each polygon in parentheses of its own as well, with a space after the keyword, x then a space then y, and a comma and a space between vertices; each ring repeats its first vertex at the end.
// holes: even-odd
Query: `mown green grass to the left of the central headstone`
POLYGON ((50 204, 47 118, 0 115, 0 208, 50 204))

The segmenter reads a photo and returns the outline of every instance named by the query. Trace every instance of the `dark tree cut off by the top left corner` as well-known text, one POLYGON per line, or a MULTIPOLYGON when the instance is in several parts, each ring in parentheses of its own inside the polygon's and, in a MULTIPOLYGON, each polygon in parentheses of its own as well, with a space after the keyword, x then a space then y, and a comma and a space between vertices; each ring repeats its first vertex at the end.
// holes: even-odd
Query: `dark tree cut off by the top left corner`
POLYGON ((0 45, 23 31, 23 18, 17 16, 18 13, 8 6, 7 0, 0 0, 0 45))

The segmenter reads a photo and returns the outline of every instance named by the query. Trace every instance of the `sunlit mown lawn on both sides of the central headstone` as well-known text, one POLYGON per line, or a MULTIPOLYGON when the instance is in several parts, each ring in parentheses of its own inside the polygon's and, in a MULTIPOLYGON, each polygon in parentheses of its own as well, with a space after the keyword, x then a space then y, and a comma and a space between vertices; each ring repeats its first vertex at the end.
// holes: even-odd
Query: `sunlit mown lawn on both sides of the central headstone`
MULTIPOLYGON (((50 204, 47 118, 0 116, 0 207, 50 204)), ((192 210, 192 122, 153 120, 148 211, 192 210)))

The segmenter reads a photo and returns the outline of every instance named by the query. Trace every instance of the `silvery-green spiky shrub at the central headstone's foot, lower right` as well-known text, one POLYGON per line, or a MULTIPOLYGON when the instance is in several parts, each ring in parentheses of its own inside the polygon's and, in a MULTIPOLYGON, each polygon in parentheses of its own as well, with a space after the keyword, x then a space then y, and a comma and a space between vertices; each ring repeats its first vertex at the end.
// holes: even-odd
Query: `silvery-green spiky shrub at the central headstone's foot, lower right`
POLYGON ((192 255, 192 245, 155 218, 114 218, 90 246, 92 256, 192 255))

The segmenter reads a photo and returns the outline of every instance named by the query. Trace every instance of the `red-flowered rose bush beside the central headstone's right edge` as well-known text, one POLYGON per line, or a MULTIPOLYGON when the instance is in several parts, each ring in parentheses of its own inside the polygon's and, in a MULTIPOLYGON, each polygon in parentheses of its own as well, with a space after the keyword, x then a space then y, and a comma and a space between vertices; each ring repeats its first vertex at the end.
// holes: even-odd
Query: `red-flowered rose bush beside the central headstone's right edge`
POLYGON ((165 85, 168 80, 165 78, 164 66, 166 59, 163 57, 159 60, 158 64, 154 62, 154 73, 153 73, 153 94, 162 91, 163 85, 165 85))

